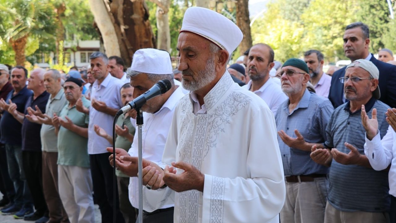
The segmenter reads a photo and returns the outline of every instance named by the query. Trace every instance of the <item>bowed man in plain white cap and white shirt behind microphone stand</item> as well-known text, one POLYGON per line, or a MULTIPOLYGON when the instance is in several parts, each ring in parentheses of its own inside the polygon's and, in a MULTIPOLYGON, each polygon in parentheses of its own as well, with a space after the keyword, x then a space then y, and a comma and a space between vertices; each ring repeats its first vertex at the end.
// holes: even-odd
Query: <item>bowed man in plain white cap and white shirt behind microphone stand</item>
MULTIPOLYGON (((162 79, 168 79, 172 88, 168 92, 156 96, 142 106, 143 110, 143 134, 142 148, 143 158, 153 162, 160 162, 164 152, 166 138, 171 126, 173 112, 179 100, 185 95, 182 87, 176 86, 173 82, 172 64, 169 54, 166 51, 156 49, 137 50, 133 55, 131 68, 127 70, 127 76, 134 87, 133 98, 149 90, 155 83, 162 79)), ((120 148, 116 148, 116 156, 128 156, 137 160, 138 156, 138 135, 135 134, 133 143, 128 153, 120 148)), ((108 148, 113 152, 112 148, 108 148)), ((112 155, 110 165, 113 165, 112 155)), ((127 159, 128 159, 127 158, 127 159)), ((129 201, 132 206, 139 208, 139 180, 137 178, 137 165, 129 162, 117 162, 117 167, 129 175, 129 201)), ((162 171, 162 169, 152 168, 152 171, 162 171)), ((159 205, 155 209, 143 210, 143 222, 145 223, 171 223, 173 222, 172 202, 159 205)))

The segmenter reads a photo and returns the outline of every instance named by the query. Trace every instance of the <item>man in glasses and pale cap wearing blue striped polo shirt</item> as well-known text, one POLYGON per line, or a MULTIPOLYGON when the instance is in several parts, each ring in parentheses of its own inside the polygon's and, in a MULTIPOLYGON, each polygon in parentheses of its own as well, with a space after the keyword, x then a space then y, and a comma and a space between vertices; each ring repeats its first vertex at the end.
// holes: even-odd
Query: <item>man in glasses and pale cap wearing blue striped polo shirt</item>
MULTIPOLYGON (((389 210, 388 176, 375 171, 364 155, 366 130, 360 117, 362 105, 371 118, 371 110, 379 114, 381 138, 389 124, 385 112, 389 108, 380 102, 379 71, 370 61, 355 60, 346 67, 344 95, 348 102, 335 109, 326 128, 326 149, 312 146, 311 158, 330 166, 329 190, 325 223, 387 222, 389 210)), ((334 77, 333 77, 334 78, 334 77)))

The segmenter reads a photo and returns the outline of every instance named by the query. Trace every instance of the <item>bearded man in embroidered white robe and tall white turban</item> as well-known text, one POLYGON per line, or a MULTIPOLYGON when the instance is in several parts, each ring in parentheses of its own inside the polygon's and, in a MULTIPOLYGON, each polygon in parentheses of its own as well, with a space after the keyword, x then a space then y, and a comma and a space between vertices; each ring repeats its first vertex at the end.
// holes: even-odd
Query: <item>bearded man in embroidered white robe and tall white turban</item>
POLYGON ((226 69, 242 37, 217 12, 186 10, 177 49, 190 94, 175 108, 162 162, 143 160, 146 211, 174 202, 174 222, 279 222, 285 182, 274 115, 226 69))

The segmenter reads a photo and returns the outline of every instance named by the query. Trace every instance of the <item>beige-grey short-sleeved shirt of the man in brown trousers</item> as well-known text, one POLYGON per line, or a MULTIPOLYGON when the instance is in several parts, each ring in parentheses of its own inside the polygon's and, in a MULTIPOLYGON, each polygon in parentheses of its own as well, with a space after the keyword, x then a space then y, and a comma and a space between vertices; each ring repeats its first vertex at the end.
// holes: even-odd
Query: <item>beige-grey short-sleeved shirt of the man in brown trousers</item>
MULTIPOLYGON (((59 116, 62 108, 67 103, 65 91, 63 88, 55 95, 55 97, 48 98, 46 104, 46 114, 53 117, 53 113, 59 116)), ((53 125, 43 124, 40 131, 42 150, 46 152, 58 152, 58 136, 55 134, 55 127, 53 125)))

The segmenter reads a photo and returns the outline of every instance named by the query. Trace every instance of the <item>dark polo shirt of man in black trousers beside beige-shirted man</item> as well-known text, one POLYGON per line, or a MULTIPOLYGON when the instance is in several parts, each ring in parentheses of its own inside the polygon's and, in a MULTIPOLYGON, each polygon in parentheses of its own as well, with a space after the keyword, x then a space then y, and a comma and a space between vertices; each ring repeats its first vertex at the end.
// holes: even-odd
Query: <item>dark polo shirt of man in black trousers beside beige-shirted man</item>
MULTIPOLYGON (((49 93, 44 91, 36 99, 33 95, 28 99, 25 105, 25 115, 28 113, 27 108, 32 107, 36 110, 36 106, 42 113, 46 112, 46 104, 48 102, 49 93)), ((41 151, 40 139, 41 124, 30 122, 27 118, 23 119, 22 124, 22 150, 23 151, 41 151)))

